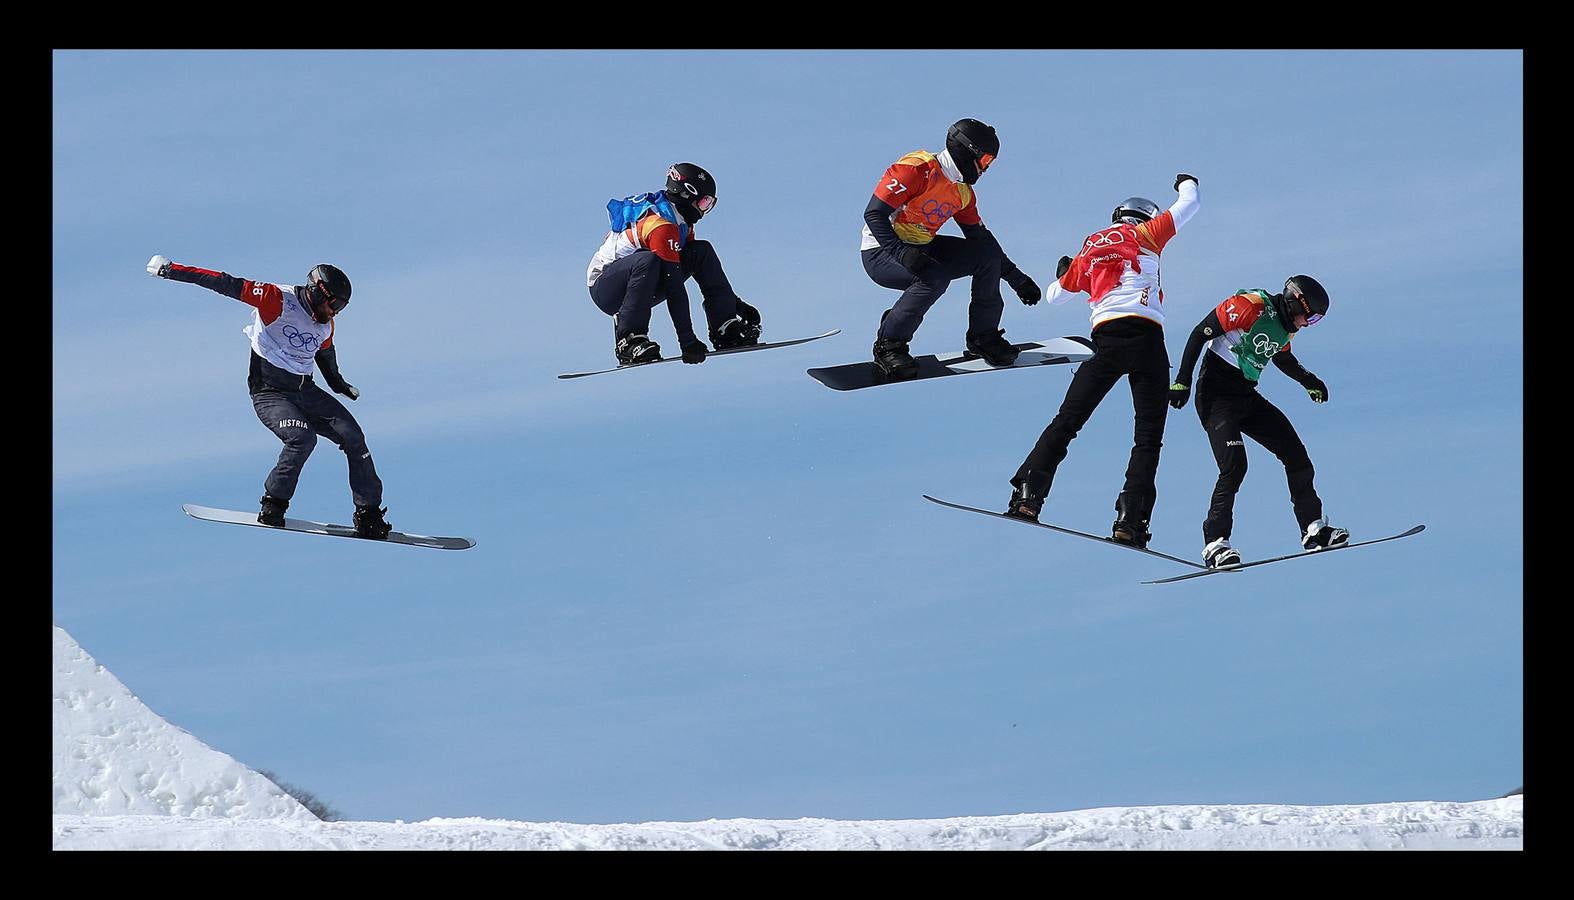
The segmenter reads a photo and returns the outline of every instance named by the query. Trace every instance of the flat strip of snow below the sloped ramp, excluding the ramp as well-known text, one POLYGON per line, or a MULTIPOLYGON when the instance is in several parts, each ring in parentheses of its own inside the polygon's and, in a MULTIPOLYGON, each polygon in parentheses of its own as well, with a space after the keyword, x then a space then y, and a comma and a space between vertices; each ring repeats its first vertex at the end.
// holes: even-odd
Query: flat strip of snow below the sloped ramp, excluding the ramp
POLYGON ((55 817, 57 850, 1520 850, 1522 798, 966 818, 530 823, 55 817))

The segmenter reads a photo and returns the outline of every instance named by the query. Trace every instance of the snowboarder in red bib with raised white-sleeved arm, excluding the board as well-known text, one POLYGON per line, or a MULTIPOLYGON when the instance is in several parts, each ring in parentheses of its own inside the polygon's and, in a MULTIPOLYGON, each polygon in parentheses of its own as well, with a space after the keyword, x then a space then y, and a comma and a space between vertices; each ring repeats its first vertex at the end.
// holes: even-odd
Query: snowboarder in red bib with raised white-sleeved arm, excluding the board
POLYGON ((1048 299, 1062 304, 1073 293, 1088 294, 1094 357, 1077 367, 1059 412, 1012 477, 1015 491, 1007 516, 1039 521, 1067 447, 1114 382, 1125 376, 1135 411, 1132 458, 1125 466, 1125 485, 1114 500, 1110 540, 1147 546, 1169 384, 1158 255, 1201 203, 1195 176, 1177 175, 1174 189, 1177 198, 1163 212, 1143 197, 1124 200, 1110 216, 1110 227, 1089 234, 1075 260, 1061 256, 1048 299))

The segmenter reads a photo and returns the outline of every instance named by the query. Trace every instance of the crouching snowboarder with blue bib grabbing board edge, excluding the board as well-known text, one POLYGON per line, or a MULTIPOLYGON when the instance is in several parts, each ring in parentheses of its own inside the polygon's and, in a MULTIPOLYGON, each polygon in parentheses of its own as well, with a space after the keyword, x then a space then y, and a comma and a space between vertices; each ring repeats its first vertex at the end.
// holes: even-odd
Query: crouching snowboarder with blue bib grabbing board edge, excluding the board
POLYGON ((661 192, 609 200, 611 231, 586 271, 597 308, 612 316, 612 354, 619 365, 658 362, 661 345, 650 340, 650 310, 666 302, 683 362, 705 362, 705 341, 694 337, 688 290, 694 278, 705 299, 715 349, 760 341, 760 312, 743 302, 721 271, 710 241, 694 238, 694 225, 716 208, 716 179, 693 162, 667 170, 661 192))

